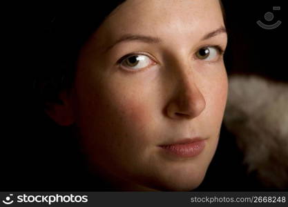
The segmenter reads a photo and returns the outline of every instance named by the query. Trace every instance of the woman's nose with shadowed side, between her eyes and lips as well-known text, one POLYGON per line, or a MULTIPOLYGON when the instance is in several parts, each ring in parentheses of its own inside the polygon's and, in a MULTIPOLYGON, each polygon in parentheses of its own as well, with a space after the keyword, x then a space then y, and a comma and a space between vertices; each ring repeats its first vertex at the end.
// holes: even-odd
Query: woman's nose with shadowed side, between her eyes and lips
POLYGON ((175 84, 174 94, 166 106, 166 113, 173 119, 193 119, 198 117, 206 106, 202 92, 193 76, 183 75, 175 84))

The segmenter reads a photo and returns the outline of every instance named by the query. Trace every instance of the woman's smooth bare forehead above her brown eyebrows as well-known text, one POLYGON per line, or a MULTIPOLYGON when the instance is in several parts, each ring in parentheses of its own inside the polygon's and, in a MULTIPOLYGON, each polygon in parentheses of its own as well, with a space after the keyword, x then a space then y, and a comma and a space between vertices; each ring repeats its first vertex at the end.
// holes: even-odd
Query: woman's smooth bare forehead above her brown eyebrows
POLYGON ((221 26, 218 0, 127 0, 111 12, 97 34, 106 44, 127 33, 157 37, 189 34, 192 38, 221 26))

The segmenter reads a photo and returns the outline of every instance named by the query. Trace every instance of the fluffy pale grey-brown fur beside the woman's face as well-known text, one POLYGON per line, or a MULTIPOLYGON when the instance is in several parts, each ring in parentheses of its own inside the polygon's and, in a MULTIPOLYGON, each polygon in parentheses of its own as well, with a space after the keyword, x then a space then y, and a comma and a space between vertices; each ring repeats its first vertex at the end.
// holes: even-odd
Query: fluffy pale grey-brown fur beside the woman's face
POLYGON ((288 188, 288 83, 231 75, 224 124, 236 135, 247 172, 269 188, 288 188))

